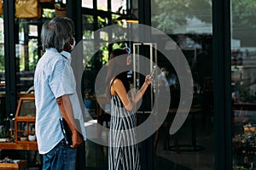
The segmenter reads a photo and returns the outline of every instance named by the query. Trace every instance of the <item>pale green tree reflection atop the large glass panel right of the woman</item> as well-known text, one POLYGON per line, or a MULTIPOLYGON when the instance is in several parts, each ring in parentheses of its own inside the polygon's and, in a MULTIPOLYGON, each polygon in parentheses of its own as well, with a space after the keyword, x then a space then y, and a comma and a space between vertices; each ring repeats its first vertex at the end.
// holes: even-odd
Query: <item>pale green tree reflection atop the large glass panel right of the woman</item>
POLYGON ((209 0, 153 0, 153 25, 161 31, 173 32, 173 29, 186 24, 187 19, 196 18, 212 23, 212 3, 209 0))

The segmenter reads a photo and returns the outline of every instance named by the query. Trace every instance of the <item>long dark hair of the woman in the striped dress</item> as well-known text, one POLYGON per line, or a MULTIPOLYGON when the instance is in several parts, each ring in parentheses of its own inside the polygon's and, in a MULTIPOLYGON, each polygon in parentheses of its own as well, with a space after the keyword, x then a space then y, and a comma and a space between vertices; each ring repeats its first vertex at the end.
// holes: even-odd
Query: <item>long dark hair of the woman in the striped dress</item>
POLYGON ((112 53, 110 54, 109 57, 109 62, 108 62, 108 71, 107 71, 107 77, 105 80, 106 83, 106 96, 109 99, 109 94, 110 94, 110 82, 114 78, 118 78, 121 80, 125 86, 126 92, 129 91, 130 85, 127 79, 127 71, 121 72, 119 75, 115 76, 116 73, 118 73, 121 70, 124 70, 124 68, 127 68, 126 64, 126 58, 125 59, 114 59, 118 56, 123 56, 128 55, 127 52, 124 49, 114 49, 112 53))

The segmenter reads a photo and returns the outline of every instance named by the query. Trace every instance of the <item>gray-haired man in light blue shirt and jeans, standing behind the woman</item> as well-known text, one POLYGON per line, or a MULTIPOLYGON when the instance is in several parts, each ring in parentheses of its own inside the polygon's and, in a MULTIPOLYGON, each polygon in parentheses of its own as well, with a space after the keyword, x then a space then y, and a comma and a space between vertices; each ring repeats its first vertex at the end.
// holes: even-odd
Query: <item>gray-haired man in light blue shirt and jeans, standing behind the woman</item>
POLYGON ((41 38, 45 53, 34 76, 38 150, 43 155, 43 169, 73 170, 77 148, 86 139, 71 56, 67 52, 75 45, 73 28, 67 19, 54 18, 44 23, 41 38), (61 132, 61 117, 72 131, 71 145, 65 143, 61 132), (79 123, 74 123, 75 119, 79 123))

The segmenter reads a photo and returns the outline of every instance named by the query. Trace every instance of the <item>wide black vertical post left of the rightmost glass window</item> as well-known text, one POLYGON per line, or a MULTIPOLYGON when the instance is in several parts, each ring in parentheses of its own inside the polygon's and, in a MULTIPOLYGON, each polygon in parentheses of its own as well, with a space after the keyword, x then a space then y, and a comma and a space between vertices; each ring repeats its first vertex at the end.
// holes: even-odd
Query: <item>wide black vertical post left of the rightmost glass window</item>
POLYGON ((232 169, 230 0, 212 1, 214 169, 232 169))

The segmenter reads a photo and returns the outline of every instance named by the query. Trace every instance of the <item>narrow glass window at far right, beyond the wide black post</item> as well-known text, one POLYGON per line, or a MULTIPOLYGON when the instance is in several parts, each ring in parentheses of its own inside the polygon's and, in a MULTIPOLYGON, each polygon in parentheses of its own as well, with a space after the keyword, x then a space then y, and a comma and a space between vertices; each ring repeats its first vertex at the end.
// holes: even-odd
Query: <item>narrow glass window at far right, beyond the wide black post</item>
POLYGON ((233 167, 249 169, 256 165, 256 2, 230 2, 233 167))

